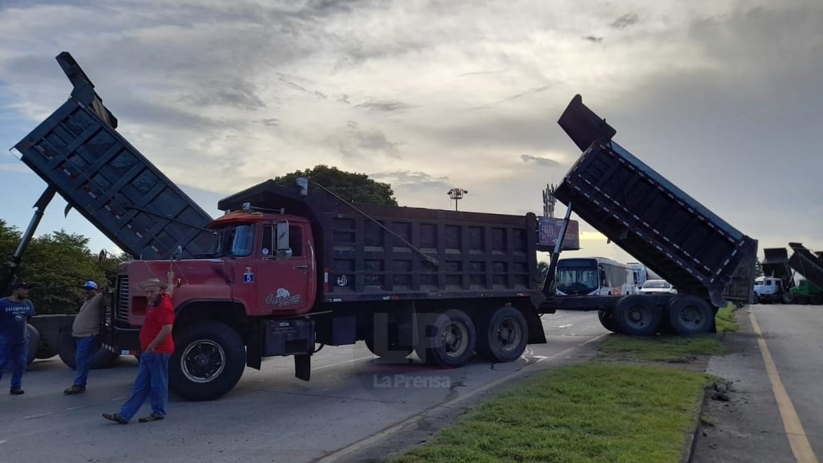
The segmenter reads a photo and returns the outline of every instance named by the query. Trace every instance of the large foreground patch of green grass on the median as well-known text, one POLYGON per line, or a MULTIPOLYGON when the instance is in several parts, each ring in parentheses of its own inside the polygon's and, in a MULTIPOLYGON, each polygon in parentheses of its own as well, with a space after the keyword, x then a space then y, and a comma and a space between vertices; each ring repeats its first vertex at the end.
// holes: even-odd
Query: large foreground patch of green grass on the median
POLYGON ((678 461, 708 381, 671 367, 552 368, 389 461, 678 461))

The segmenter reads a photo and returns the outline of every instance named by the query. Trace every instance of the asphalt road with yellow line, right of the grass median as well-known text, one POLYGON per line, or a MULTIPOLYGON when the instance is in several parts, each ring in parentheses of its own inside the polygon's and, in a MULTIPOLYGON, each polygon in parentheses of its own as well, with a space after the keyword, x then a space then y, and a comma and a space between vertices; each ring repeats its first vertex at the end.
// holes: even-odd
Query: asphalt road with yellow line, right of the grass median
POLYGON ((712 358, 707 369, 732 382, 730 400, 704 408, 714 424, 704 426, 693 461, 823 461, 823 306, 746 306, 737 319, 740 332, 728 336, 733 353, 712 358), (782 388, 770 378, 761 341, 782 388))

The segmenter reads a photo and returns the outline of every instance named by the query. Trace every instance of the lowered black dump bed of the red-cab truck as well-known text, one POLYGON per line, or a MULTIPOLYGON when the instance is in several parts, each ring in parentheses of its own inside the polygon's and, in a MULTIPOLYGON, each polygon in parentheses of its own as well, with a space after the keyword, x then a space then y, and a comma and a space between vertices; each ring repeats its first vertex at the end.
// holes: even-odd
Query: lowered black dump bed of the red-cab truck
MULTIPOLYGON (((308 217, 328 271, 327 300, 543 296, 537 217, 344 203, 273 180, 218 203, 221 210, 285 208, 308 217)), ((324 278, 323 278, 324 279, 324 278)), ((320 281, 323 282, 323 279, 320 281)))

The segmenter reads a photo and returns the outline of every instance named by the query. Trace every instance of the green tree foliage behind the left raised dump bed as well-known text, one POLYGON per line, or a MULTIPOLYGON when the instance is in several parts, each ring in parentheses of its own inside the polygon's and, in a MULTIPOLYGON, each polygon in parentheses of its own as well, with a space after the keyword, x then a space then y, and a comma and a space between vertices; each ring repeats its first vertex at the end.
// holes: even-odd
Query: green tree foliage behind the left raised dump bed
MULTIPOLYGON (((0 219, 3 264, 11 260, 21 235, 0 219)), ((38 314, 77 313, 83 302, 83 283, 93 280, 100 288, 112 284, 118 261, 109 258, 100 262, 88 242, 85 236, 61 230, 35 236, 26 247, 16 275, 35 287, 30 298, 38 314)))

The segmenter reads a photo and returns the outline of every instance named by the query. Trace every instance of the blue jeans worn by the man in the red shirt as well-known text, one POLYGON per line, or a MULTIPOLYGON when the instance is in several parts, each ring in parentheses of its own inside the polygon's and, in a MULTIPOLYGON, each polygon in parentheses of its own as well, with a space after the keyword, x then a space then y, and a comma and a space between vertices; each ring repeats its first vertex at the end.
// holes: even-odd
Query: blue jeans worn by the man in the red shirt
POLYGON ((132 396, 120 409, 120 416, 132 419, 149 397, 151 413, 165 417, 165 405, 169 402, 170 353, 140 354, 140 371, 134 380, 132 396))

